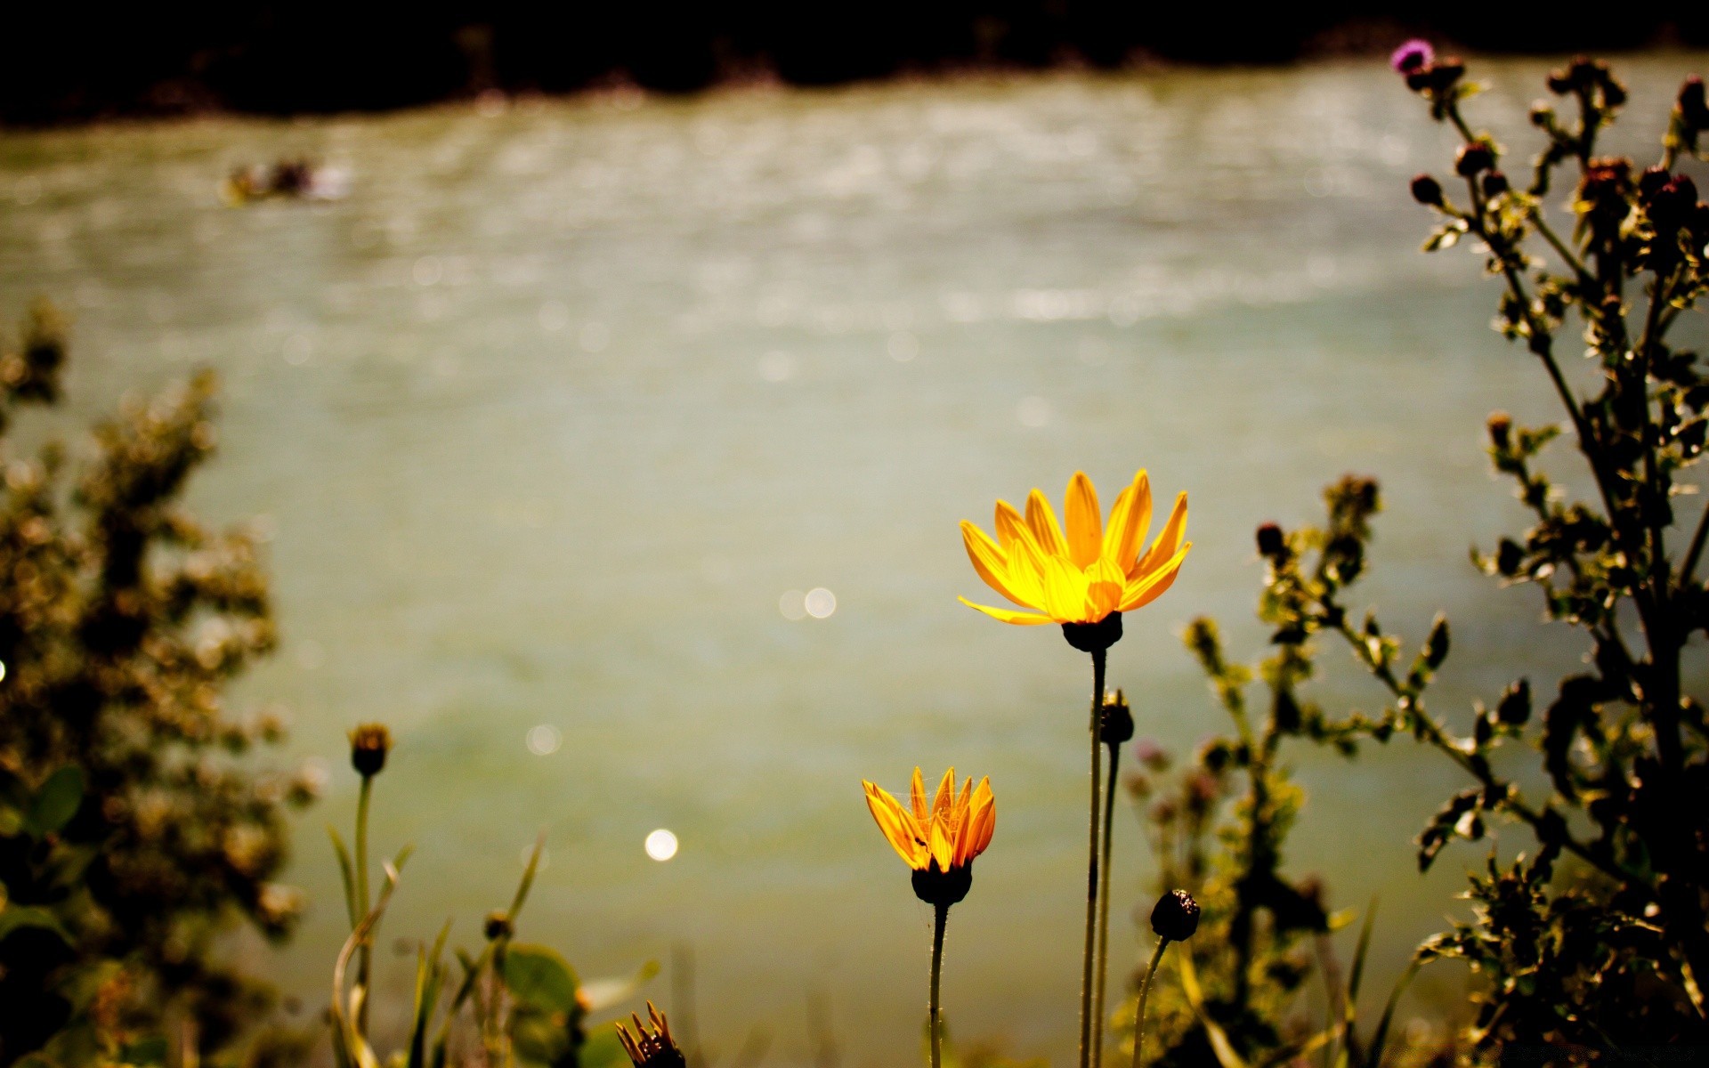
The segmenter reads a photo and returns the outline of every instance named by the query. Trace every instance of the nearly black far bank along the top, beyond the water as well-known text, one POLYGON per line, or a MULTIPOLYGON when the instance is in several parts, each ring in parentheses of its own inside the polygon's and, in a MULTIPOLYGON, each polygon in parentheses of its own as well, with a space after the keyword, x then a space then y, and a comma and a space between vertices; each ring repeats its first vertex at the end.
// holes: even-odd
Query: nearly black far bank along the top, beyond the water
POLYGON ((969 67, 1277 63, 1391 48, 1606 53, 1709 44, 1709 5, 1574 19, 1528 7, 1136 0, 863 3, 26 3, 0 17, 0 121, 371 111, 637 84, 692 92, 776 77, 825 85, 969 67))

